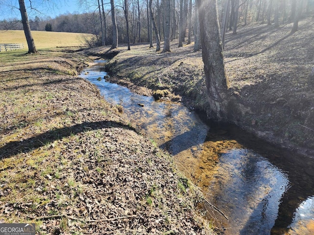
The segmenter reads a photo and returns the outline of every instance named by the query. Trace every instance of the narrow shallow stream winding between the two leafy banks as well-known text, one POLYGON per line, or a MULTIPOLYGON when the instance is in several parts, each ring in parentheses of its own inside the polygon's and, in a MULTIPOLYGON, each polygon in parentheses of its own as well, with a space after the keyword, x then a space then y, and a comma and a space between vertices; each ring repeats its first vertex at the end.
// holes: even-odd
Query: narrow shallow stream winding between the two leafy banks
POLYGON ((209 127, 182 104, 106 82, 105 61, 96 63, 80 76, 96 84, 108 102, 123 106, 132 125, 174 156, 186 177, 229 218, 208 210, 221 221, 223 234, 314 234, 313 159, 278 150, 235 127, 209 127))

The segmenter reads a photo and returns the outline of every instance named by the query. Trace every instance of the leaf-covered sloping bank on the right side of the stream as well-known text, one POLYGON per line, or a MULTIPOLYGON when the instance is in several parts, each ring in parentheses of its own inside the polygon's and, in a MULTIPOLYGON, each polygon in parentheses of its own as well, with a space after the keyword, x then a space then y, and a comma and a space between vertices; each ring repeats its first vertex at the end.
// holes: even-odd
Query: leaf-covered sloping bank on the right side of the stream
MULTIPOLYGON (((312 18, 301 21, 294 34, 291 27, 251 24, 239 27, 237 35, 227 33, 224 55, 233 100, 229 118, 263 140, 313 156, 312 18)), ((164 54, 148 45, 133 45, 131 51, 122 46, 106 67, 112 81, 149 88, 147 94, 168 89, 206 112, 201 51, 193 52, 193 46, 178 47, 178 41, 173 41, 172 52, 164 54)), ((107 49, 88 53, 102 55, 107 49)))

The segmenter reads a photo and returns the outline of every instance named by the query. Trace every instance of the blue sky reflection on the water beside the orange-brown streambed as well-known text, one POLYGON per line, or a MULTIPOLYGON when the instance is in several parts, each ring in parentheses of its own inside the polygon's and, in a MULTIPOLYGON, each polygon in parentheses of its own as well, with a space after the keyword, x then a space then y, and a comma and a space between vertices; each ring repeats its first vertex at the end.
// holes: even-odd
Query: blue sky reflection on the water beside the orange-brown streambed
POLYGON ((269 234, 289 185, 286 173, 248 149, 222 154, 216 168, 208 198, 232 218, 226 234, 269 234))

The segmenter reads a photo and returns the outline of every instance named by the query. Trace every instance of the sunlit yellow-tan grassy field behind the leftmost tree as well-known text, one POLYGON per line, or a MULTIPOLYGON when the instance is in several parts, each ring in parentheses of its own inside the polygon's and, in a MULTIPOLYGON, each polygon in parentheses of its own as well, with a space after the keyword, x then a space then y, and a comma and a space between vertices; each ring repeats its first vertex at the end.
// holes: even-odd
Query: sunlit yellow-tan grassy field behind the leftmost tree
MULTIPOLYGON (((52 47, 82 47, 85 39, 93 37, 87 33, 46 32, 32 31, 37 49, 52 47)), ((23 30, 0 30, 0 43, 23 43, 25 50, 28 49, 23 30)))

